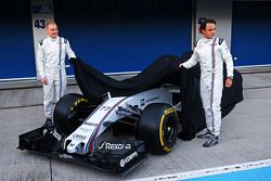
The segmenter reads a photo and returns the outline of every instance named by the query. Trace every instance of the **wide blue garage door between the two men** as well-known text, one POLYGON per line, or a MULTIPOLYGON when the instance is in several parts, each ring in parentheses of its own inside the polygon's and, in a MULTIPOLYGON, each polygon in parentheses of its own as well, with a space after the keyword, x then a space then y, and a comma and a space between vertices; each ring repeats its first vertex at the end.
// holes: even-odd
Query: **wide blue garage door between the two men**
POLYGON ((162 54, 190 50, 191 14, 191 2, 177 0, 54 4, 60 35, 77 56, 103 73, 142 70, 162 54))

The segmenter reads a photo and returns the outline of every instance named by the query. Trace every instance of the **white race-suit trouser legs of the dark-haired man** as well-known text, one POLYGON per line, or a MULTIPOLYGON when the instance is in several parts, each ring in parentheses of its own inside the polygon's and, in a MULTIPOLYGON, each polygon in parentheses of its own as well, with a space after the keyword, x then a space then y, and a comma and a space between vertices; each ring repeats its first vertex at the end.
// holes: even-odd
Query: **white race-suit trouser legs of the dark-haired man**
POLYGON ((201 79, 201 98, 205 112, 206 126, 215 135, 220 134, 222 90, 223 78, 221 75, 212 73, 208 79, 201 79))

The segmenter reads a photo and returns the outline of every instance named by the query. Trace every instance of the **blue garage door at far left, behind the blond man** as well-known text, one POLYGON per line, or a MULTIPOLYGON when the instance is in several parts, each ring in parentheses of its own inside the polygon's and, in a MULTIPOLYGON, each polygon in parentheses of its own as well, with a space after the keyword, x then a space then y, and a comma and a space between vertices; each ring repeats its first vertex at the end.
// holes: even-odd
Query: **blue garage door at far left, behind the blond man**
POLYGON ((36 77, 29 1, 1 1, 0 79, 36 77))

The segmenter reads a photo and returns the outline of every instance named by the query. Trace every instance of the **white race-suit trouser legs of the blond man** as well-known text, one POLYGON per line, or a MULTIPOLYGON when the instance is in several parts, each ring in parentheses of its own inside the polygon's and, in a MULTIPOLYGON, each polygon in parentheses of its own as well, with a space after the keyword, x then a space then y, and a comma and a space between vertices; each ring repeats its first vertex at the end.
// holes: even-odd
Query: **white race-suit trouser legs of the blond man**
POLYGON ((55 68, 47 72, 48 85, 43 85, 44 115, 52 119, 54 92, 56 101, 66 92, 67 80, 65 68, 55 68))

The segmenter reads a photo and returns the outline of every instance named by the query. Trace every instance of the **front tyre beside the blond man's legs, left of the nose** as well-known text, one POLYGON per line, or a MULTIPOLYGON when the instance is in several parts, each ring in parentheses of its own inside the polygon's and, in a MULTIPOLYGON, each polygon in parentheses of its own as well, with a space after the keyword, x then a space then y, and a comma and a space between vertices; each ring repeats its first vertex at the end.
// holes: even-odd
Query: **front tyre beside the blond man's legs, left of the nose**
POLYGON ((76 93, 65 94, 56 103, 53 112, 53 122, 60 134, 70 134, 91 113, 89 101, 76 93))

